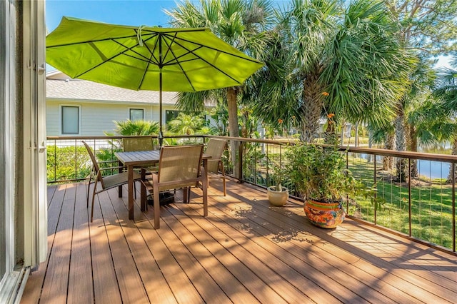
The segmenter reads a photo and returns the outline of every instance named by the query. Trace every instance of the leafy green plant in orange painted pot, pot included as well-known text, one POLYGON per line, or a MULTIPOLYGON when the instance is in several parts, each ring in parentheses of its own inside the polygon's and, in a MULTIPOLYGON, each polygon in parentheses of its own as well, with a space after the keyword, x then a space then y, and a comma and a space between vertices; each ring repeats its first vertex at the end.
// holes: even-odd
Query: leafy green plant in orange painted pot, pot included
POLYGON ((346 216, 343 198, 365 190, 348 169, 338 141, 329 146, 298 144, 286 153, 288 173, 296 191, 303 196, 304 211, 314 225, 335 228, 346 216))

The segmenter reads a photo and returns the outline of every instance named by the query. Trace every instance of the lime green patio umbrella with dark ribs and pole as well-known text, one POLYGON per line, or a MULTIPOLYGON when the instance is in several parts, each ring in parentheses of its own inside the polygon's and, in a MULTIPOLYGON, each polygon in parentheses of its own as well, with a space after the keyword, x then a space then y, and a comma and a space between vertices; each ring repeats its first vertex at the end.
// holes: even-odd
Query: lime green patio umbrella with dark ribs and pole
POLYGON ((46 62, 71 78, 159 91, 239 86, 263 66, 209 29, 121 26, 63 17, 46 37, 46 62))

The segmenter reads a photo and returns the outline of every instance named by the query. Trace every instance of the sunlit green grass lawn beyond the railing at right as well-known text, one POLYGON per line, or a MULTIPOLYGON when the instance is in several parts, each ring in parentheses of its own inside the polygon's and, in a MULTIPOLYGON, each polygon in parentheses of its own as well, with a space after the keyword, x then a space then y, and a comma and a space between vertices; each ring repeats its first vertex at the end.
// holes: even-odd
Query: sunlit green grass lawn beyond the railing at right
MULTIPOLYGON (((381 165, 378 164, 378 167, 381 165)), ((377 168, 378 168, 377 167, 377 168)), ((368 186, 373 184, 373 163, 364 158, 349 158, 349 168, 368 186)), ((384 206, 376 213, 378 225, 409 234, 408 183, 396 183, 390 175, 376 173, 378 197, 384 206)), ((370 201, 358 198, 348 214, 374 222, 370 201)), ((434 181, 413 180, 411 186, 411 235, 431 243, 452 248, 452 186, 434 181)))

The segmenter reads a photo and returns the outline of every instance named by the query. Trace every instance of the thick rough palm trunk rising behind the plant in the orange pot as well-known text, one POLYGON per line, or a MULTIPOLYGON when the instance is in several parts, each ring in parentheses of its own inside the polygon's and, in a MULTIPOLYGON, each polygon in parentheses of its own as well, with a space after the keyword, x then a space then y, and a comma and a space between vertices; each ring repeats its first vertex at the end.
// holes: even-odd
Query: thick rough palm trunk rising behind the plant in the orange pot
POLYGON ((321 88, 317 83, 318 75, 311 74, 303 81, 301 111, 301 141, 312 143, 319 128, 319 118, 323 106, 321 88))

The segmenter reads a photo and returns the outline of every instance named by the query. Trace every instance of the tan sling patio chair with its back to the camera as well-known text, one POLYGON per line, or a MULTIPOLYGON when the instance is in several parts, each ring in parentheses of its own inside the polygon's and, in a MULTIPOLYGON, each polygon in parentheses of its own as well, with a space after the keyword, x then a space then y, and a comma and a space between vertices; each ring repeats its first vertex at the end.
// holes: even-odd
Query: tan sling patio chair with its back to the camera
MULTIPOLYGON (((208 183, 205 168, 201 167, 203 145, 163 146, 160 152, 159 171, 152 180, 143 181, 154 197, 154 228, 159 229, 159 193, 184 189, 184 202, 189 202, 188 188, 202 184, 204 216, 208 216, 208 183)), ((143 194, 143 191, 141 191, 143 194)), ((146 197, 141 196, 141 203, 146 197)))

